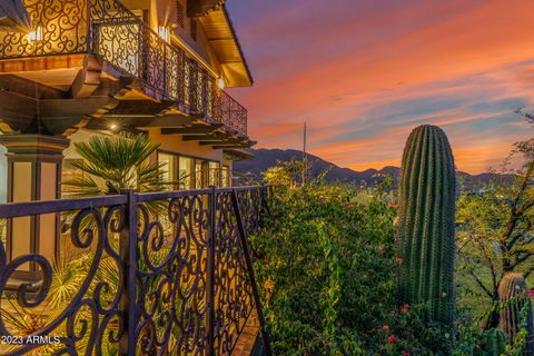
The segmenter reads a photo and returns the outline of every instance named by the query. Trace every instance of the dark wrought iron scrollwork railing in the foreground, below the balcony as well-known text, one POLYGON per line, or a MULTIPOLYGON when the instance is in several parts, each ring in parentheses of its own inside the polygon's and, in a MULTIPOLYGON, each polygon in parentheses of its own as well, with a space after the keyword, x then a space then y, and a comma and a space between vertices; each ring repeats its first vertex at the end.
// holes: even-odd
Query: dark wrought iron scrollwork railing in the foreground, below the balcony
POLYGON ((63 225, 60 263, 9 259, 0 244, 0 354, 231 355, 254 308, 264 323, 246 235, 267 196, 255 186, 0 205, 0 218, 63 225), (32 268, 40 280, 10 291, 32 268))

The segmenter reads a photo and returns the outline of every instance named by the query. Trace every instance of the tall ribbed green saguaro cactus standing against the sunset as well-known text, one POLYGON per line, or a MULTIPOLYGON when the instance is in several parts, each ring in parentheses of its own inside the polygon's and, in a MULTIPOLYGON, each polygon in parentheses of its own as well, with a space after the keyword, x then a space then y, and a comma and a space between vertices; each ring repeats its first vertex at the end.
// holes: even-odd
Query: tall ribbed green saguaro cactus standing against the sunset
POLYGON ((399 303, 428 304, 429 319, 454 322, 454 158, 445 132, 415 128, 404 149, 397 254, 399 303))

